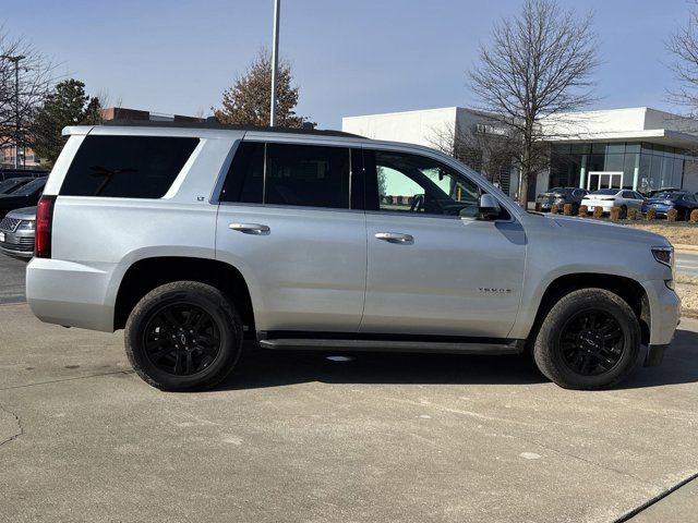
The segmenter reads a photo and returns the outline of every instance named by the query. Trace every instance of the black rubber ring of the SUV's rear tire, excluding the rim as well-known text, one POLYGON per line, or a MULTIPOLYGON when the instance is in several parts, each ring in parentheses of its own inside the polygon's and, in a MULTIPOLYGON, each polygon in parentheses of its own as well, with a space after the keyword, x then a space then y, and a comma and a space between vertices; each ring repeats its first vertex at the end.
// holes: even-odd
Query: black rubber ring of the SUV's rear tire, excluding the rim
POLYGON ((208 285, 166 284, 144 296, 132 312, 125 327, 127 354, 139 375, 164 390, 192 390, 214 386, 234 366, 241 349, 241 328, 227 300, 208 285), (218 296, 216 296, 218 294, 218 296), (146 355, 145 329, 164 307, 191 304, 210 315, 220 333, 220 348, 215 360, 202 372, 177 376, 158 368, 146 355))

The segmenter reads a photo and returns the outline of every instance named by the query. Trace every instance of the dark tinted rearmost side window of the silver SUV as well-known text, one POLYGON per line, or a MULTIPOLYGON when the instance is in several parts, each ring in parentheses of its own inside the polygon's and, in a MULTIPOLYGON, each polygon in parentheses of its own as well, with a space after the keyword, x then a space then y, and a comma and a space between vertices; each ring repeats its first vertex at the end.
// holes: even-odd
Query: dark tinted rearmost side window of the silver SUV
POLYGON ((189 137, 87 136, 60 194, 161 198, 197 144, 189 137))

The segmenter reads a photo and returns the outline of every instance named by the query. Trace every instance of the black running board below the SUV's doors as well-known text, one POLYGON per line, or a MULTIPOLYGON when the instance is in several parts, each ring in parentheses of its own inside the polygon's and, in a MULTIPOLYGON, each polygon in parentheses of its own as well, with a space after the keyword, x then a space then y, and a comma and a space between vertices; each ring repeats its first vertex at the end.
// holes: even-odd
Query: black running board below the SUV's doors
POLYGON ((376 351, 376 352, 430 352, 453 354, 520 354, 524 340, 503 340, 502 343, 453 341, 390 341, 390 340, 335 340, 316 338, 280 338, 260 340, 262 349, 304 351, 376 351))

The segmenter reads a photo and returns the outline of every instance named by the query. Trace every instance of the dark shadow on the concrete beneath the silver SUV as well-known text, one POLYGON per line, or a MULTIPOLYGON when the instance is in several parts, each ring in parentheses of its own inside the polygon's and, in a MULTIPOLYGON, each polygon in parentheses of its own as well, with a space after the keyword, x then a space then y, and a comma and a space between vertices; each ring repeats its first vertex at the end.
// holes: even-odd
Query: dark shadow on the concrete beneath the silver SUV
MULTIPOLYGON (((617 389, 698 382, 698 332, 678 330, 658 367, 641 364, 617 389)), ((643 357, 643 354, 642 356, 643 357)), ((528 355, 272 351, 245 345, 234 372, 215 390, 326 384, 532 385, 546 382, 528 355)))

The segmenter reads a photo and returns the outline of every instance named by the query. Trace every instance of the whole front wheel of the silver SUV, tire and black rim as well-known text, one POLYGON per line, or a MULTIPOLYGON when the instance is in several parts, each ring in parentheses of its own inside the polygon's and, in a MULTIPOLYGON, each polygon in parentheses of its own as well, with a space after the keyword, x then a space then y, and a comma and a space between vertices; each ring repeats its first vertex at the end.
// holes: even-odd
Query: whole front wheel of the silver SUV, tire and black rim
POLYGON ((633 372, 639 353, 637 316, 623 299, 603 289, 581 289, 559 299, 533 342, 540 372, 566 389, 613 387, 633 372))

